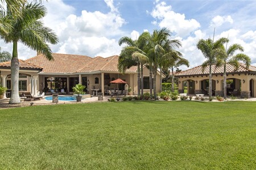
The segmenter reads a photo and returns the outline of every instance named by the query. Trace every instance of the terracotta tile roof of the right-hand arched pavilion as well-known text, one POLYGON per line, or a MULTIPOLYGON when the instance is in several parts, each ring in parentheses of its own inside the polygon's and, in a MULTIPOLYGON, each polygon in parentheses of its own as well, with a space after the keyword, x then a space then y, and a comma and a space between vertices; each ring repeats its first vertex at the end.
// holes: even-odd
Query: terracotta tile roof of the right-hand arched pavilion
MULTIPOLYGON (((185 71, 181 71, 180 73, 176 73, 175 76, 185 76, 185 75, 208 75, 209 74, 209 66, 205 67, 204 72, 202 71, 202 66, 193 67, 192 69, 188 69, 185 71)), ((212 65, 212 74, 222 74, 224 72, 224 66, 216 67, 216 65, 212 65)), ((238 69, 236 67, 227 64, 226 65, 226 73, 245 73, 245 72, 256 72, 256 67, 249 66, 246 69, 246 65, 240 63, 238 69)))

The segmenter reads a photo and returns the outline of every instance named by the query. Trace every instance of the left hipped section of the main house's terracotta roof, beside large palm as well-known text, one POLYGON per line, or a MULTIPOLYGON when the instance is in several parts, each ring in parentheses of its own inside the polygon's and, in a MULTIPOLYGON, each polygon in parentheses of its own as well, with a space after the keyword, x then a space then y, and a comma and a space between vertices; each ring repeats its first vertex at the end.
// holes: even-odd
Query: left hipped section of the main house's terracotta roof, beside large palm
POLYGON ((41 73, 76 73, 86 63, 92 60, 91 57, 53 53, 53 61, 49 61, 43 54, 27 59, 26 61, 43 67, 41 73))

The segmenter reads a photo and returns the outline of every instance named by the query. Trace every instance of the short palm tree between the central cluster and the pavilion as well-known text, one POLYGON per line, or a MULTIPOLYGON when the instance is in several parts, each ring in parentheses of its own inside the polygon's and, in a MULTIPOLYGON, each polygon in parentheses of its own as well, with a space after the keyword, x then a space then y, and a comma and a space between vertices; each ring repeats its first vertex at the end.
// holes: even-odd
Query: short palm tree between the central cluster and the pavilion
POLYGON ((168 59, 168 61, 166 62, 166 67, 169 67, 172 71, 172 92, 174 92, 174 69, 177 69, 178 67, 183 65, 189 67, 189 61, 183 58, 180 53, 175 52, 173 55, 175 55, 175 57, 168 59))

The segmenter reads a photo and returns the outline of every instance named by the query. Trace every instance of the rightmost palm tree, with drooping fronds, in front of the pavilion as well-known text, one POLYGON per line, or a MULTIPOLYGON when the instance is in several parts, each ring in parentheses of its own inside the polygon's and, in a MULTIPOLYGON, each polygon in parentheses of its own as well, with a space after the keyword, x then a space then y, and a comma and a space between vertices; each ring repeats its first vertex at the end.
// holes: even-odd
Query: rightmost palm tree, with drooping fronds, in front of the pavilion
MULTIPOLYGON (((228 42, 227 42, 228 44, 228 42)), ((246 54, 238 53, 237 51, 243 52, 243 47, 240 44, 232 44, 226 50, 220 50, 220 55, 217 58, 217 66, 224 66, 224 84, 223 84, 223 92, 224 98, 226 99, 226 64, 235 66, 237 69, 239 67, 238 61, 245 62, 245 65, 248 69, 251 63, 251 59, 246 54)))

